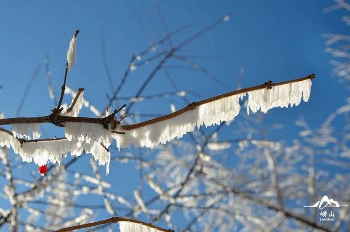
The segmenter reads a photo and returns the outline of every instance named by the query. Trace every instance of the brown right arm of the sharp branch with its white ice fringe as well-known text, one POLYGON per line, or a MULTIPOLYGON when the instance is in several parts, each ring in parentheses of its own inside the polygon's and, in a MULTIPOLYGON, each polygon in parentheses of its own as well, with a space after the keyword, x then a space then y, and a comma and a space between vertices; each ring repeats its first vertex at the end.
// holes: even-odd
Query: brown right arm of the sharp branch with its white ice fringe
POLYGON ((124 135, 113 134, 117 147, 150 147, 159 143, 181 138, 195 127, 219 125, 233 120, 240 112, 239 100, 248 95, 247 112, 255 113, 259 109, 266 113, 274 107, 298 106, 303 99, 309 100, 311 79, 315 74, 304 78, 280 83, 265 82, 260 86, 239 89, 212 97, 200 102, 193 102, 174 113, 134 125, 122 125, 124 135))

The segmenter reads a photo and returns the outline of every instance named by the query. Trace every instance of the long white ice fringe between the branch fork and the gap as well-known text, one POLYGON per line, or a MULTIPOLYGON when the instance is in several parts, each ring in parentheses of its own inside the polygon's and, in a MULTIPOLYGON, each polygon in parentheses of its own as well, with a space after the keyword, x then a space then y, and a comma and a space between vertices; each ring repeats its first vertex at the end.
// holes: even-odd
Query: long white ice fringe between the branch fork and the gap
POLYGON ((152 125, 142 126, 133 130, 125 130, 124 135, 113 134, 117 147, 155 147, 159 143, 181 138, 187 132, 193 131, 201 125, 219 125, 224 121, 231 121, 240 111, 239 98, 245 93, 218 99, 192 110, 186 111, 174 118, 160 121, 152 125))

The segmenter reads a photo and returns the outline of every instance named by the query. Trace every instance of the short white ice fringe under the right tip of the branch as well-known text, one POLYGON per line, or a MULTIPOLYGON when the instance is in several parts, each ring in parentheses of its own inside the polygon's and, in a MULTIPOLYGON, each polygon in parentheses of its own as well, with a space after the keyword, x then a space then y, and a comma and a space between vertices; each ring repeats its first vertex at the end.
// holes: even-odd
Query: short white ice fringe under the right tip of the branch
POLYGON ((257 89, 249 91, 247 113, 249 109, 255 113, 259 109, 263 113, 274 107, 291 107, 298 106, 301 102, 301 97, 304 102, 307 102, 310 97, 312 81, 306 79, 298 82, 291 82, 284 85, 274 86, 272 89, 257 89))

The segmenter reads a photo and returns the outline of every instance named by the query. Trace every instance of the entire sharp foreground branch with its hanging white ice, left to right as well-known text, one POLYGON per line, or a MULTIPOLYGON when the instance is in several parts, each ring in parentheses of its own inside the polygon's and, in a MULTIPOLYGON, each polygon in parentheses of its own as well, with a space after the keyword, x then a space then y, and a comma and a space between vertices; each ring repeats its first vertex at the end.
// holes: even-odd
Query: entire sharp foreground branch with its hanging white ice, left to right
POLYGON ((260 86, 240 89, 218 95, 199 102, 193 102, 187 107, 143 123, 121 125, 121 120, 115 119, 114 112, 105 118, 77 117, 83 105, 83 90, 79 89, 72 104, 66 110, 62 107, 59 115, 55 111, 51 115, 33 118, 0 119, 0 125, 12 124, 12 133, 0 128, 0 146, 12 147, 23 161, 34 161, 39 166, 48 161, 60 163, 62 157, 70 152, 73 156, 80 156, 83 152, 90 153, 99 165, 106 165, 109 173, 110 153, 108 147, 112 139, 117 147, 153 148, 159 143, 181 138, 195 127, 202 125, 219 125, 224 121, 233 120, 240 112, 239 100, 248 95, 249 112, 261 109, 266 113, 273 107, 293 107, 299 105, 301 98, 308 101, 311 91, 311 74, 304 78, 291 81, 272 83, 265 82, 260 86), (63 114, 63 115, 61 115, 63 114), (69 115, 69 116, 65 116, 69 115), (65 137, 59 139, 39 140, 40 123, 53 123, 65 128, 65 137), (30 140, 29 130, 33 132, 30 140), (26 140, 25 140, 26 139, 26 140))

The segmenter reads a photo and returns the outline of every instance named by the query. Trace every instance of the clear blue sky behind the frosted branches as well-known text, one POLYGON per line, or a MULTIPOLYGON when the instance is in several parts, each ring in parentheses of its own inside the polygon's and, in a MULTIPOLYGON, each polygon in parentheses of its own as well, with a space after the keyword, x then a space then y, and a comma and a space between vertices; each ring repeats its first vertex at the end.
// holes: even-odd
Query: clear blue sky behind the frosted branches
MULTIPOLYGON (((191 101, 208 98, 237 88, 240 68, 245 69, 243 87, 259 85, 267 80, 274 82, 295 79, 310 73, 316 74, 308 103, 292 109, 273 109, 268 123, 283 123, 285 130, 271 134, 271 139, 291 140, 297 137, 294 121, 299 115, 314 127, 329 113, 340 107, 347 96, 346 89, 331 79, 330 55, 324 52, 322 33, 349 33, 341 22, 346 12, 330 14, 322 9, 333 4, 331 0, 197 0, 160 1, 167 28, 171 31, 192 24, 173 39, 176 44, 197 30, 231 13, 231 19, 212 32, 193 42, 184 54, 210 56, 212 59, 196 60, 205 66, 225 86, 217 85, 207 76, 189 70, 170 70, 180 89, 192 90, 201 96, 189 96, 191 101)), ((162 24, 151 1, 9 1, 0 3, 0 110, 13 117, 28 80, 38 64, 44 64, 45 54, 51 57, 53 87, 56 93, 62 85, 66 51, 73 32, 81 30, 78 37, 77 62, 70 72, 68 86, 84 87, 85 96, 96 107, 105 107, 105 94, 109 86, 102 64, 101 37, 105 31, 106 58, 115 83, 119 83, 130 60, 164 36, 162 24), (142 29, 136 14, 140 15, 142 29), (151 15, 154 25, 147 14, 151 15)), ((166 44, 168 46, 168 44, 166 44)), ((171 63, 169 63, 171 65, 171 63)), ((133 71, 120 96, 130 96, 140 87, 151 67, 133 71)), ((159 72, 144 94, 173 91, 163 72, 159 72)), ((178 108, 185 105, 178 98, 173 101, 178 108)), ((66 98, 70 103, 70 99, 66 98)), ((166 114, 170 100, 141 102, 133 111, 166 114)), ((37 75, 26 99, 21 116, 44 115, 53 103, 48 97, 44 68, 37 75)), ((244 110, 242 111, 244 113, 244 110)), ((86 110, 81 115, 92 116, 86 110)), ((225 130, 223 136, 231 136, 225 130)), ((88 159, 85 160, 88 162, 88 159)), ((36 169, 35 164, 32 165, 36 169)), ((75 168, 79 169, 79 166, 75 168)), ((102 168, 104 169, 104 168, 102 168)), ((113 175, 130 173, 132 165, 111 167, 107 177, 116 188, 129 189, 124 180, 113 175), (114 174, 113 174, 114 172, 114 174)), ((137 175, 134 173, 134 175, 137 175)), ((121 190, 123 191, 123 190, 121 190)), ((126 191, 126 190, 125 190, 126 191)))

